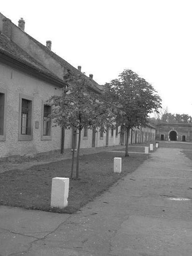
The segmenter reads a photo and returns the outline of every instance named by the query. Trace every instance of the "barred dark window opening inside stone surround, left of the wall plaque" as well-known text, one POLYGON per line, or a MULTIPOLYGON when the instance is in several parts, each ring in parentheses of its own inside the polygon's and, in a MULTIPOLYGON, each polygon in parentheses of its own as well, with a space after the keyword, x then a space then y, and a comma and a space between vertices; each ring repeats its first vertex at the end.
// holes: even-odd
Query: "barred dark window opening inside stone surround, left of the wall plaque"
POLYGON ((22 99, 21 103, 21 134, 31 134, 31 100, 22 99))

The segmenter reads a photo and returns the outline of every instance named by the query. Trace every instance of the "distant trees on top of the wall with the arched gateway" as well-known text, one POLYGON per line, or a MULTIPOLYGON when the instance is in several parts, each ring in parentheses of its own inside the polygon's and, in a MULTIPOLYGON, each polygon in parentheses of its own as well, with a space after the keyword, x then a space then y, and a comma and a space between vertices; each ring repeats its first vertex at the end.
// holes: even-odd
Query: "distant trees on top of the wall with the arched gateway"
POLYGON ((149 119, 154 124, 158 123, 192 123, 192 116, 188 114, 171 114, 168 107, 155 114, 155 117, 149 119))

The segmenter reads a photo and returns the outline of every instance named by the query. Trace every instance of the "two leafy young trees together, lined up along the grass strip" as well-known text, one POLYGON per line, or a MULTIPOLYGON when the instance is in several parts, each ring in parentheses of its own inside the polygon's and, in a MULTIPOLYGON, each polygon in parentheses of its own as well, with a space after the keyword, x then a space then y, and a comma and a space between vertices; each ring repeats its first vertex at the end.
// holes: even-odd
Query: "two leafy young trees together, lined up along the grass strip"
MULTIPOLYGON (((131 70, 124 70, 119 78, 105 85, 104 93, 99 95, 89 89, 87 79, 72 74, 65 78, 68 86, 63 93, 53 96, 50 118, 55 125, 64 129, 78 130, 78 151, 76 178, 78 178, 79 150, 83 128, 93 132, 105 132, 115 125, 129 130, 145 125, 148 114, 158 112, 161 98, 145 79, 131 70)), ((73 177, 74 150, 72 157, 71 178, 73 177)), ((128 156, 128 136, 126 153, 128 156)))

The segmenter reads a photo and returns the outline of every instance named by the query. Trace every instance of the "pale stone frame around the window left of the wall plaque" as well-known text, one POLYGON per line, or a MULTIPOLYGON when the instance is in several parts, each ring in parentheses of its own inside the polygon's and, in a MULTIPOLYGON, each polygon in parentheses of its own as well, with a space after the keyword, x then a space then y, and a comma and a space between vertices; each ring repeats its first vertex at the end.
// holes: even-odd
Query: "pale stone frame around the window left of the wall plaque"
POLYGON ((28 96, 26 94, 20 93, 19 96, 19 134, 18 134, 18 140, 19 141, 30 141, 33 139, 33 103, 34 98, 31 96, 28 96), (22 111, 22 99, 23 100, 30 100, 31 101, 31 111, 30 111, 30 129, 31 134, 21 134, 21 111, 22 111))

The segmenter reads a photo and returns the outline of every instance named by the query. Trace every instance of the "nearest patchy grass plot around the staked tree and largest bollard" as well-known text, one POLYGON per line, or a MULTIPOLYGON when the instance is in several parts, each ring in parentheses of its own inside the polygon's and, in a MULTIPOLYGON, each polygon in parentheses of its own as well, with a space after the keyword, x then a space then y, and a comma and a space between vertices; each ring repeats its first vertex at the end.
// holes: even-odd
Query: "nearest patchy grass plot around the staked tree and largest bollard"
POLYGON ((148 155, 122 157, 121 174, 113 172, 114 157, 121 153, 101 152, 80 157, 79 180, 70 180, 68 206, 51 208, 51 182, 55 177, 70 177, 71 159, 12 170, 0 174, 0 205, 20 206, 57 213, 74 213, 118 179, 135 171, 148 155))

